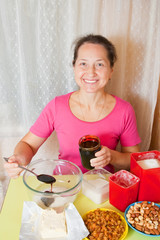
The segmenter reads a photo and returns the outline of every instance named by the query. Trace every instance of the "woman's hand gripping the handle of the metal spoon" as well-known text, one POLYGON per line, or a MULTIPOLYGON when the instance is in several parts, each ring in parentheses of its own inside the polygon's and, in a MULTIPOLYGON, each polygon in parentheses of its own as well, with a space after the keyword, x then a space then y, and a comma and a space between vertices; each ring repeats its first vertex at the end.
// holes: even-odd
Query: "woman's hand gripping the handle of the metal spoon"
POLYGON ((20 163, 20 157, 17 157, 15 155, 12 155, 9 157, 8 162, 4 163, 4 168, 11 178, 18 178, 20 173, 23 171, 21 168, 18 167, 18 164, 20 163))

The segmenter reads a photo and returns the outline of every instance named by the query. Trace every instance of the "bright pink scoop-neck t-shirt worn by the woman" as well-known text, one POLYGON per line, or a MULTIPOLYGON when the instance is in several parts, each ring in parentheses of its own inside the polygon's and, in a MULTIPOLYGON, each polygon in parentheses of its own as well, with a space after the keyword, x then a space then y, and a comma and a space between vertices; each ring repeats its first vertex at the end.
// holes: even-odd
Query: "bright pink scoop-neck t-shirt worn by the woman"
MULTIPOLYGON (((101 145, 116 149, 120 141, 122 146, 134 146, 141 142, 138 135, 135 113, 130 103, 115 97, 114 109, 105 118, 96 122, 85 122, 73 115, 69 107, 72 93, 57 96, 51 100, 30 128, 30 131, 41 138, 48 138, 55 130, 59 141, 59 159, 71 161, 78 165, 82 172, 87 170, 81 164, 79 139, 84 135, 96 135, 101 145)), ((111 165, 106 167, 113 172, 111 165)))

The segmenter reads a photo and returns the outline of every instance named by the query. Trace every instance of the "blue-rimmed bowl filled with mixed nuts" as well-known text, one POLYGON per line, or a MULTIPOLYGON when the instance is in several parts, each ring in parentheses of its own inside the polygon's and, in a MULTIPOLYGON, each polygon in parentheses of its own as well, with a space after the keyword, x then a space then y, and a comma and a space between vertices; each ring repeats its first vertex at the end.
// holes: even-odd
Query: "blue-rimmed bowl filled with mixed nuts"
POLYGON ((160 236, 160 205, 157 203, 148 201, 132 203, 125 210, 125 219, 133 230, 143 235, 160 236))

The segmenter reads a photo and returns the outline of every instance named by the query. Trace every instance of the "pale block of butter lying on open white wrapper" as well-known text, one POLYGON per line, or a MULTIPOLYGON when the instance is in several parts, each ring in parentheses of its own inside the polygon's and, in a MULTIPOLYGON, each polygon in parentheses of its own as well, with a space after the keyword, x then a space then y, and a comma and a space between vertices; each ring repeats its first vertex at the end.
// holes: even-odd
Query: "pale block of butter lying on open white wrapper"
POLYGON ((65 213, 54 209, 43 210, 39 222, 39 235, 42 240, 67 240, 65 213))

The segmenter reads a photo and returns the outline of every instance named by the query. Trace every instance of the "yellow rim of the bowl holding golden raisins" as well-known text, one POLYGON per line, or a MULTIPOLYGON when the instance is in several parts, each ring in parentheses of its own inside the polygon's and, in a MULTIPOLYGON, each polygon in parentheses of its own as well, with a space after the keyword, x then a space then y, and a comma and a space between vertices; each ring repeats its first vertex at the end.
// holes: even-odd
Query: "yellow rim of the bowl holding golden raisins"
MULTIPOLYGON (((124 217, 122 217, 122 215, 120 214, 120 213, 118 213, 118 212, 116 212, 116 211, 114 211, 114 210, 111 210, 111 209, 106 209, 106 208, 98 208, 99 210, 101 210, 101 211, 110 211, 110 212, 114 212, 114 213, 116 213, 120 218, 121 218, 121 220, 122 220, 122 222, 124 223, 124 225, 125 225, 125 231, 123 232, 123 234, 121 235, 121 237, 118 239, 118 240, 123 240, 123 239, 125 239, 125 237, 127 236, 127 233, 128 233, 128 225, 127 225, 127 222, 126 222, 126 220, 124 219, 124 217)), ((84 216, 83 216, 83 220, 86 220, 86 215, 88 214, 88 213, 90 213, 90 212, 94 212, 94 211, 96 211, 97 209, 93 209, 93 210, 90 210, 90 211, 88 211, 84 216)), ((89 240, 89 238, 84 238, 84 240, 89 240)))

